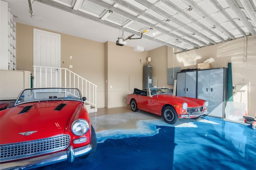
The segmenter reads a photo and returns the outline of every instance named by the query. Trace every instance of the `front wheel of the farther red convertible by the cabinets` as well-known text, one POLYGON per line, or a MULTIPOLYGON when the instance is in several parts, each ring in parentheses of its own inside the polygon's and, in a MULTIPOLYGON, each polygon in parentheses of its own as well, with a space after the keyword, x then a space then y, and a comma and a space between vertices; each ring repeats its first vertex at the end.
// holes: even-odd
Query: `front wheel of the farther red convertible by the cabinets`
POLYGON ((164 118, 164 121, 170 124, 175 124, 179 120, 176 110, 171 106, 164 107, 162 111, 162 116, 164 118))

